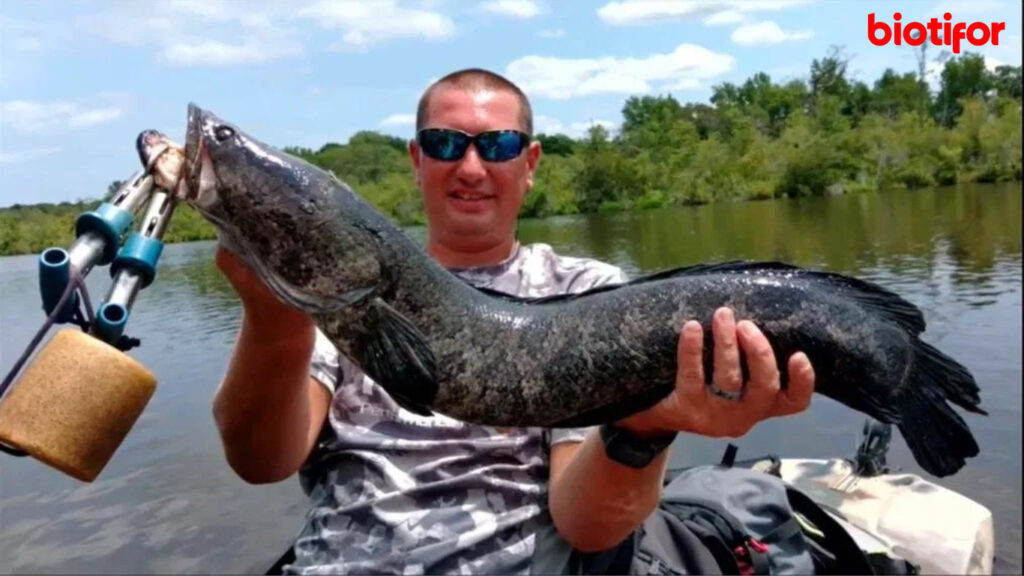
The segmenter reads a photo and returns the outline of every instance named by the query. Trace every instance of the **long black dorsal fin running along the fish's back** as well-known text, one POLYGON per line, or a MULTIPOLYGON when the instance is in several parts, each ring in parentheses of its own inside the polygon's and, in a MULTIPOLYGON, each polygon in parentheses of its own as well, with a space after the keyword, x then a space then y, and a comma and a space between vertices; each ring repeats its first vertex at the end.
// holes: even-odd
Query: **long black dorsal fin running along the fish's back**
POLYGON ((637 277, 623 284, 608 284, 592 288, 574 294, 556 294, 541 297, 518 297, 488 288, 477 288, 480 292, 496 298, 505 299, 511 302, 543 305, 566 302, 586 298, 601 292, 617 290, 627 286, 639 286, 672 278, 684 278, 688 276, 702 276, 709 274, 764 274, 764 273, 790 273, 800 277, 805 281, 821 282, 829 284, 843 292, 846 297, 856 300, 860 305, 878 314, 879 316, 898 324, 911 334, 920 334, 925 330, 925 319, 921 311, 912 303, 905 300, 900 295, 882 287, 878 284, 844 276, 829 272, 818 272, 787 264, 779 261, 757 261, 757 260, 730 260, 723 262, 699 263, 687 266, 673 268, 652 274, 637 277))

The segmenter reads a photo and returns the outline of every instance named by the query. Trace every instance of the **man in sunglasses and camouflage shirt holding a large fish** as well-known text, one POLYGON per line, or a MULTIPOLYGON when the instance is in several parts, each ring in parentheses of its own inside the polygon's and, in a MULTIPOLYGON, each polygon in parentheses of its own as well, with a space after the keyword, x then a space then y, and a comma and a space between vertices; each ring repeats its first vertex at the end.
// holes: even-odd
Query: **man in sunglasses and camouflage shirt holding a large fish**
MULTIPOLYGON (((438 262, 519 295, 625 280, 617 268, 518 244, 518 212, 541 146, 525 137, 532 113, 515 85, 460 71, 427 89, 417 116, 409 152, 428 218, 426 249, 438 262), (466 135, 478 137, 470 143, 466 135)), ((312 507, 286 567, 293 572, 525 573, 535 533, 549 518, 578 550, 610 548, 657 504, 676 433, 742 436, 765 418, 804 410, 813 388, 810 363, 798 354, 780 392, 767 339, 722 310, 713 324, 713 381, 741 388, 742 351, 750 381, 738 400, 708 390, 701 328, 690 322, 680 336, 676 390, 603 430, 496 429, 419 416, 340 358, 308 317, 279 302, 230 254, 218 250, 217 262, 244 319, 214 416, 227 460, 246 481, 300 472, 312 507)))

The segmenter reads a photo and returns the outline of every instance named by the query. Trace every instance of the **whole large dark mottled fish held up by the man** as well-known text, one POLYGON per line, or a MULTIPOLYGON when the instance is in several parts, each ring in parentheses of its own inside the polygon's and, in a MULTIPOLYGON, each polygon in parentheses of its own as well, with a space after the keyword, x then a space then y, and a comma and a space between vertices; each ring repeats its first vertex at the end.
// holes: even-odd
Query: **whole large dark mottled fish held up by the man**
MULTIPOLYGON (((487 293, 442 269, 333 174, 198 107, 188 116, 187 201, 411 410, 499 426, 621 418, 672 389, 683 323, 700 321, 710 338, 714 311, 728 305, 767 335, 783 380, 786 359, 806 353, 817 393, 899 425, 928 471, 953 474, 978 453, 947 404, 984 413, 973 377, 920 340, 920 311, 879 286, 726 262, 574 296, 487 293)), ((711 374, 710 349, 706 361, 711 374)))

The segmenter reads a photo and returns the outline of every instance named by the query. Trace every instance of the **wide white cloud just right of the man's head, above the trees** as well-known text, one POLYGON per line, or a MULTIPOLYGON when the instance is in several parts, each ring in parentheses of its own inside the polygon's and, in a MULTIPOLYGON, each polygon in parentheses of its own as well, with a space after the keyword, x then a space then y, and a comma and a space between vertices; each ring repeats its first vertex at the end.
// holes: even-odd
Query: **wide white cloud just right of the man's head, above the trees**
POLYGON ((698 81, 730 71, 733 58, 694 44, 646 57, 557 58, 525 56, 506 67, 506 75, 530 96, 556 99, 590 94, 632 94, 662 89, 687 79, 698 81))

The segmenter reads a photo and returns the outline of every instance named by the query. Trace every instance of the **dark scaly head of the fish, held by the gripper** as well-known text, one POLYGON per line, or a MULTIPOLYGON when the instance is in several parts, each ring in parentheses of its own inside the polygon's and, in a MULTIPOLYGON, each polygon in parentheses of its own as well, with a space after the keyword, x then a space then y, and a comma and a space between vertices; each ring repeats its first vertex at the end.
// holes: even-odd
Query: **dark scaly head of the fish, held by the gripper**
POLYGON ((282 300, 309 314, 351 303, 379 281, 373 241, 344 217, 349 189, 195 105, 184 202, 282 300))

